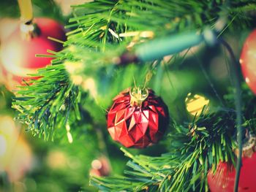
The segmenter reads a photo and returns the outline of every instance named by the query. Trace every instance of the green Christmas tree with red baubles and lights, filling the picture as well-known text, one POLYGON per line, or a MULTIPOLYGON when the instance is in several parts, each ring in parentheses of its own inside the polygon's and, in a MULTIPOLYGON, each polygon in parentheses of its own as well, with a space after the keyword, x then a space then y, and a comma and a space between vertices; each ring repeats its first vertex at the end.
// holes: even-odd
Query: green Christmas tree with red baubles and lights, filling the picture
MULTIPOLYGON (((19 4, 28 41, 50 26, 56 30, 48 40, 58 43, 48 48, 43 39, 26 51, 20 40, 23 62, 17 64, 7 59, 15 38, 1 45, 4 85, 13 92, 2 88, 1 108, 12 105, 8 114, 26 137, 34 136, 37 158, 47 155, 23 185, 39 191, 255 191, 255 1, 86 2, 72 5, 67 37, 59 24, 33 19, 30 4, 19 4), (26 53, 38 47, 47 53, 37 53, 29 66, 34 56, 26 53), (8 71, 11 65, 38 70, 18 76, 15 68, 8 71), (10 73, 18 86, 10 85, 10 73)), ((10 183, 9 169, 4 172, 1 183, 10 183)))

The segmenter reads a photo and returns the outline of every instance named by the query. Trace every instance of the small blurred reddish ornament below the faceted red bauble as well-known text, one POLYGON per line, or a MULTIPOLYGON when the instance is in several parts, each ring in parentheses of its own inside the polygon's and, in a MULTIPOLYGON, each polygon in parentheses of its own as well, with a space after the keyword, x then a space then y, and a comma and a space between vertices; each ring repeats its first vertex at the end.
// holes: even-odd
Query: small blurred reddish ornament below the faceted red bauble
POLYGON ((90 175, 99 177, 108 176, 110 174, 110 170, 110 162, 105 156, 94 159, 94 161, 91 162, 90 175))

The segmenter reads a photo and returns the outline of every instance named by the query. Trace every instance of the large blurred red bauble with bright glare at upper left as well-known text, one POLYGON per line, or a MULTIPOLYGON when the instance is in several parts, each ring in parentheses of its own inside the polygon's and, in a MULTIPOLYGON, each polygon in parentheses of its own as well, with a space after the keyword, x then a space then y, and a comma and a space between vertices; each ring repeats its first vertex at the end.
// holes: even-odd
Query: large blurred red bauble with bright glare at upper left
POLYGON ((9 89, 19 85, 27 74, 34 74, 37 69, 50 64, 52 58, 36 57, 36 54, 48 54, 47 50, 59 51, 62 45, 48 37, 66 39, 64 27, 56 20, 49 18, 35 18, 37 36, 24 38, 20 26, 5 39, 1 45, 1 65, 6 85, 9 89))

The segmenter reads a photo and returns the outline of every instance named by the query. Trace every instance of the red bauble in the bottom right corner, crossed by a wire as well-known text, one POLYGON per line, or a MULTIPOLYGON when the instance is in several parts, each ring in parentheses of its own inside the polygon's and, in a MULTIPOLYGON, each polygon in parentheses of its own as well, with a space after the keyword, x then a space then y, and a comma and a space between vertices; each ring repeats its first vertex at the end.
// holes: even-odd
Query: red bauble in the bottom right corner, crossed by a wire
MULTIPOLYGON (((252 157, 242 159, 238 191, 256 191, 256 153, 252 157)), ((220 162, 216 173, 208 172, 208 186, 211 192, 233 192, 236 179, 236 169, 233 165, 220 162)))

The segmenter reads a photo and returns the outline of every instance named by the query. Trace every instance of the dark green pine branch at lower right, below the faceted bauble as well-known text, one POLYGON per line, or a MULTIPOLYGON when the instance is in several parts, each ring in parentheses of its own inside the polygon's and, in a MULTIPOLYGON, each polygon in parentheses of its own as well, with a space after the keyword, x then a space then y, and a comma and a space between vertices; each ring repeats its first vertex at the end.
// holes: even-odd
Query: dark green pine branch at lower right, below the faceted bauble
POLYGON ((127 163, 132 170, 125 171, 127 177, 118 177, 118 181, 129 182, 93 177, 91 185, 102 191, 207 191, 208 169, 215 170, 219 161, 235 164, 234 118, 233 112, 218 111, 202 114, 188 126, 174 125, 169 135, 171 153, 161 157, 134 156, 122 149, 132 159, 127 163))

